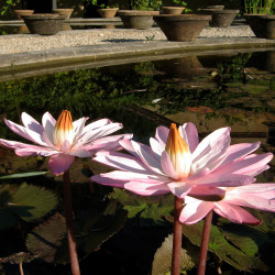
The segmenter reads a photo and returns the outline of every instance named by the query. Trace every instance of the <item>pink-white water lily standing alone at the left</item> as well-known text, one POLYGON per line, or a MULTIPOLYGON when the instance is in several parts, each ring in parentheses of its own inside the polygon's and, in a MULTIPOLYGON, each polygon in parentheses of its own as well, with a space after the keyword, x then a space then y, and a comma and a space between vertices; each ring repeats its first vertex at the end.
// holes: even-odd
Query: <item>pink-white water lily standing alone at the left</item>
POLYGON ((100 119, 85 125, 89 118, 73 122, 70 112, 65 110, 57 121, 50 112, 44 113, 42 124, 23 112, 19 125, 4 119, 7 127, 22 138, 37 145, 0 139, 0 143, 14 148, 19 156, 51 156, 50 168, 55 175, 61 175, 69 168, 75 157, 91 157, 96 152, 118 150, 119 141, 131 139, 131 134, 109 135, 122 128, 109 119, 100 119))

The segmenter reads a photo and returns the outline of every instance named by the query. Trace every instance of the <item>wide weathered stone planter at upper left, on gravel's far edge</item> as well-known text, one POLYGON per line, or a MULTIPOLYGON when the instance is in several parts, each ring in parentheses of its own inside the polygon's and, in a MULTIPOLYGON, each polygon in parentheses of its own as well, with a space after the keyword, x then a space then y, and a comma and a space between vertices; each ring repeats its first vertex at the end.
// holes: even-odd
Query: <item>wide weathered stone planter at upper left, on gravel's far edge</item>
POLYGON ((30 33, 51 35, 61 31, 65 15, 54 13, 37 13, 22 16, 30 33))

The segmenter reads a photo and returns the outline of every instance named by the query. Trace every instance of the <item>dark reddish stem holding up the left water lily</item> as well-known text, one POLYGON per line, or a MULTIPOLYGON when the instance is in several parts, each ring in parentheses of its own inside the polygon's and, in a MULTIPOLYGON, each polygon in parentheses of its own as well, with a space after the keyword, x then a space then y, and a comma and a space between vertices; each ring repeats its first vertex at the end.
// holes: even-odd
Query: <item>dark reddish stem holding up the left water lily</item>
POLYGON ((74 233, 70 180, 69 180, 69 172, 68 170, 66 170, 63 175, 63 186, 64 186, 66 227, 67 227, 67 238, 68 238, 72 274, 73 275, 80 275, 78 256, 77 256, 77 248, 76 248, 76 239, 75 239, 75 233, 74 233))

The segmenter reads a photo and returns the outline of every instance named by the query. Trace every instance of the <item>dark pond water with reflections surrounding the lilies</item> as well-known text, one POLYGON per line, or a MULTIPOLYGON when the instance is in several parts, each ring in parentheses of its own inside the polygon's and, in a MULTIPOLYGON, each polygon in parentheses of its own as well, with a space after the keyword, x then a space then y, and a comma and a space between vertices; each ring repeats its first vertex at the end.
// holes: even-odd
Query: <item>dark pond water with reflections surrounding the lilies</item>
MULTIPOLYGON (((257 153, 275 153, 274 62, 275 52, 272 51, 191 55, 0 82, 0 136, 20 140, 7 129, 3 118, 19 122, 21 112, 25 111, 41 121, 46 111, 57 117, 63 109, 68 109, 73 119, 108 117, 122 122, 121 132, 133 132, 134 139, 143 143, 148 143, 157 125, 191 121, 200 138, 229 125, 232 143, 261 141, 257 153)), ((20 158, 13 152, 0 148, 0 175, 32 170, 47 170, 47 161, 20 158)), ((109 168, 89 160, 77 160, 70 168, 82 274, 150 274, 156 249, 172 232, 173 198, 141 198, 89 183, 90 175, 105 170, 109 168)), ((275 182, 274 161, 271 168, 258 176, 258 182, 275 182)), ((47 173, 40 177, 2 179, 1 188, 2 271, 19 274, 18 263, 23 261, 25 274, 68 274, 69 266, 64 265, 67 263, 66 239, 62 238, 62 177, 47 173), (30 202, 34 218, 15 211, 10 221, 9 215, 14 213, 14 209, 7 206, 7 196, 15 201, 18 186, 23 183, 42 186, 55 197, 42 194, 43 201, 48 196, 45 200, 48 209, 38 215, 34 211, 37 206, 30 202), (57 231, 61 237, 51 239, 57 231), (35 239, 38 234, 41 238, 35 239), (37 253, 34 248, 42 248, 42 252, 37 253), (24 254, 18 254, 20 252, 24 254)), ((26 202, 33 198, 31 191, 25 196, 26 202)), ((228 246, 219 241, 218 246, 211 246, 207 274, 215 274, 220 266, 217 255, 223 260, 221 268, 228 274, 244 274, 250 268, 258 274, 274 273, 274 258, 267 253, 275 248, 274 215, 255 215, 264 219, 257 229, 246 226, 228 229, 223 220, 215 219, 213 224, 222 232, 217 240, 222 238, 228 246), (238 230, 234 238, 240 234, 248 238, 245 240, 251 241, 249 252, 240 244, 244 239, 238 239, 240 243, 234 245, 228 242, 227 230, 231 233, 238 230), (235 257, 228 252, 230 250, 238 250, 232 252, 235 257)), ((187 250, 196 250, 195 244, 196 240, 184 239, 187 250)), ((169 258, 169 255, 165 257, 169 258)), ((161 274, 155 265, 153 274, 161 274)), ((196 268, 188 272, 195 273, 196 268)))

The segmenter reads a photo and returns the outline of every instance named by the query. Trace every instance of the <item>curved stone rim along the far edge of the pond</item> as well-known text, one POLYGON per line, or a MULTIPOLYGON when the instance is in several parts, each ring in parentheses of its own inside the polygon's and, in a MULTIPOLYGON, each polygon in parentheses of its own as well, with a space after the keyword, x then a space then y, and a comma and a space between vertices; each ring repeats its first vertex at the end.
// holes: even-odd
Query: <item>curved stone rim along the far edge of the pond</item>
POLYGON ((197 38, 194 42, 127 42, 0 55, 0 81, 42 74, 190 55, 275 51, 275 40, 197 38))

